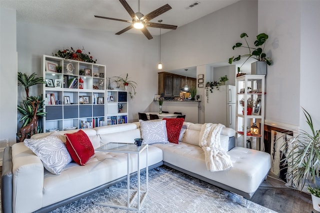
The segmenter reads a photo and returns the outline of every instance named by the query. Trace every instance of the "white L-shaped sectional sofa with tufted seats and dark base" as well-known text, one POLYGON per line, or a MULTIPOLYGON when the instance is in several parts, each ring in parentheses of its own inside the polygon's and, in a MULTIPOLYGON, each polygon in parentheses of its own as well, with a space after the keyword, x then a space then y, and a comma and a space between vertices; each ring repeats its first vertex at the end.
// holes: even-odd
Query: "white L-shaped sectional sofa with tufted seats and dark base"
MULTIPOLYGON (((200 126, 184 123, 179 137, 180 144, 149 145, 148 168, 165 164, 249 199, 270 169, 269 154, 234 147, 234 130, 224 128, 220 140, 224 149, 230 150, 228 154, 233 167, 225 171, 209 172, 205 167, 203 151, 197 146, 200 126)), ((58 133, 63 135, 76 131, 58 133)), ((141 137, 138 122, 83 131, 94 149, 109 142, 133 143, 134 138, 141 137)), ((33 138, 48 134, 37 134, 33 138)), ((134 158, 134 155, 130 156, 134 158)), ((142 153, 141 158, 145 158, 145 154, 143 156, 142 153)), ((145 161, 140 162, 141 168, 145 168, 145 161)), ((95 152, 85 166, 71 162, 60 175, 53 175, 44 169, 41 160, 30 149, 23 143, 17 143, 5 149, 2 164, 3 213, 48 212, 126 178, 126 155, 121 153, 95 152)), ((131 174, 135 175, 136 171, 134 165, 131 174)))

